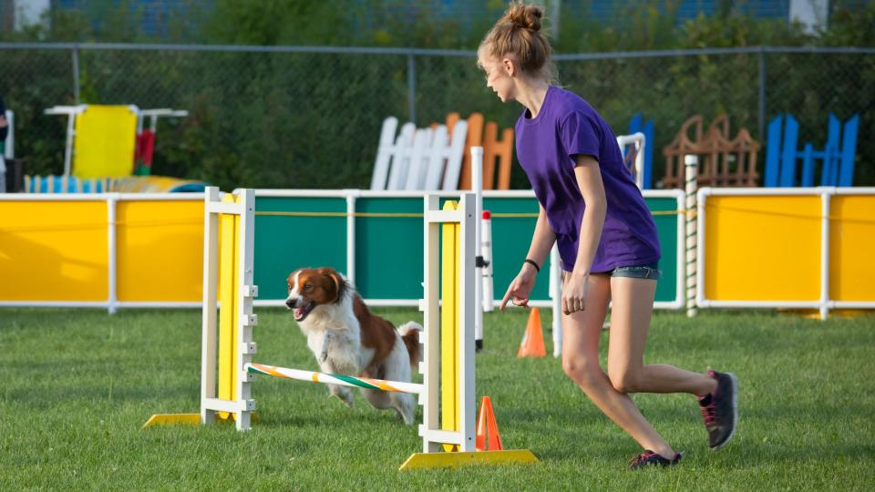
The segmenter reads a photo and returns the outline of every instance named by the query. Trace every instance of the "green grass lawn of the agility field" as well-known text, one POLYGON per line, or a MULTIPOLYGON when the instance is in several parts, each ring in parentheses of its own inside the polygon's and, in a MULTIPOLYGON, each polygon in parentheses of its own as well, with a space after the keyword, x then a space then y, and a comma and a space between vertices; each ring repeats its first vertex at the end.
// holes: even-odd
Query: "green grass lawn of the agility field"
MULTIPOLYGON (((376 310, 395 323, 413 310, 376 310)), ((288 313, 261 310, 255 360, 314 369, 288 313)), ((550 314, 543 313, 545 328, 550 314)), ((521 311, 486 316, 477 392, 495 406, 506 448, 532 466, 398 472, 416 427, 356 395, 350 410, 319 384, 261 377, 261 422, 140 425, 197 412, 198 311, 0 311, 0 490, 869 489, 875 483, 875 317, 819 322, 768 312, 656 313, 648 363, 731 370, 740 426, 718 453, 689 395, 635 395, 685 450, 673 469, 630 472, 639 452, 551 357, 517 359, 521 311)), ((548 347, 550 332, 545 332, 548 347)), ((602 337, 604 342, 606 337, 602 337)), ((603 351, 602 346, 602 352, 603 351)), ((421 415, 421 408, 417 415, 421 415)))

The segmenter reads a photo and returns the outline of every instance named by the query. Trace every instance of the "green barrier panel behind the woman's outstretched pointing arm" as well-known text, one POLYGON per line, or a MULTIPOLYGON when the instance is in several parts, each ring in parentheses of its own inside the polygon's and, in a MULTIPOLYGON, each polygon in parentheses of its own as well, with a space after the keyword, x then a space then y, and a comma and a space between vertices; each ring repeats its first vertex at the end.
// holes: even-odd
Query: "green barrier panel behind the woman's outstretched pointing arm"
MULTIPOLYGON (((499 301, 522 268, 535 231, 538 200, 534 198, 483 198, 483 210, 492 212, 492 291, 499 301), (532 217, 504 217, 504 214, 533 214, 532 217)), ((531 300, 550 299, 550 259, 541 265, 531 300)))

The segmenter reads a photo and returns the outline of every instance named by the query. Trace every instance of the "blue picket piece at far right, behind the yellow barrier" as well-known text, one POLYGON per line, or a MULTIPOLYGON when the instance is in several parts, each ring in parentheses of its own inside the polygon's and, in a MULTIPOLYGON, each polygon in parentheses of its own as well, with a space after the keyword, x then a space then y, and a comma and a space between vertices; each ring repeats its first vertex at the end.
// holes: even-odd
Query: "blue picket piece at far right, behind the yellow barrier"
POLYGON ((815 186, 815 163, 820 160, 820 186, 853 186, 860 115, 854 115, 842 126, 839 118, 829 113, 828 125, 827 143, 822 150, 815 150, 810 142, 797 150, 799 124, 796 118, 787 113, 772 119, 768 123, 764 185, 770 188, 815 186), (800 174, 798 159, 802 159, 800 174))

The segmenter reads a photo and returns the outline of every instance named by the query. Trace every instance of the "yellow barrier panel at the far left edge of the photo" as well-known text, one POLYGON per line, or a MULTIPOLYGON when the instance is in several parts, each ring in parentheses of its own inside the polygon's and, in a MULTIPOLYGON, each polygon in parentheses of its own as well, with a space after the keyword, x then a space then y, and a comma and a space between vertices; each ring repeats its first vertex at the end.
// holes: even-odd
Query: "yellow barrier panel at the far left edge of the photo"
POLYGON ((104 201, 0 201, 0 299, 108 299, 104 201))

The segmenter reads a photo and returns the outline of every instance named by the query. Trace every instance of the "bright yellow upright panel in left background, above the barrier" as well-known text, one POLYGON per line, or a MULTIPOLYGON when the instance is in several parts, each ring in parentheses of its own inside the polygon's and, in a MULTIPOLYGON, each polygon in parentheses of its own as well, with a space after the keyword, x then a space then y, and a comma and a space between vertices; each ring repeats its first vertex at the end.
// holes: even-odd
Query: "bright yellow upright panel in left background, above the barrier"
POLYGON ((89 105, 76 117, 73 175, 122 178, 134 170, 137 113, 127 106, 89 105))

